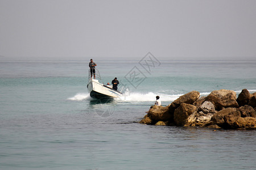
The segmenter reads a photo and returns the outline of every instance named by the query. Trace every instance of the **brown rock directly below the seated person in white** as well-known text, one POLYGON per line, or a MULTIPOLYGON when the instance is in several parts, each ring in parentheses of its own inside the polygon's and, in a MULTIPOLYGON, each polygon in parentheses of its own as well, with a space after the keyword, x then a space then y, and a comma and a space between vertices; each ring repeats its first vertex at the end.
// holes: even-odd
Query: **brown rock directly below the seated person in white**
POLYGON ((154 105, 148 111, 148 117, 151 117, 154 121, 168 121, 171 119, 171 114, 169 113, 169 107, 154 105))

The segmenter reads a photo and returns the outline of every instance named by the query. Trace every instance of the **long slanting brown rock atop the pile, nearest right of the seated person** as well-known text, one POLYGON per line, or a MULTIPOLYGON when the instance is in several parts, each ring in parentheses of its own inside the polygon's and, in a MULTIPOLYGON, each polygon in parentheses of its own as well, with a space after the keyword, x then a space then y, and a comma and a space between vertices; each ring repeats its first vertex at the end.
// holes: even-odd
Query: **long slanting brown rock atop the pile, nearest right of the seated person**
POLYGON ((171 114, 174 114, 174 111, 181 103, 193 104, 197 99, 199 99, 200 93, 198 91, 191 91, 185 95, 180 96, 178 99, 174 100, 169 107, 171 114))

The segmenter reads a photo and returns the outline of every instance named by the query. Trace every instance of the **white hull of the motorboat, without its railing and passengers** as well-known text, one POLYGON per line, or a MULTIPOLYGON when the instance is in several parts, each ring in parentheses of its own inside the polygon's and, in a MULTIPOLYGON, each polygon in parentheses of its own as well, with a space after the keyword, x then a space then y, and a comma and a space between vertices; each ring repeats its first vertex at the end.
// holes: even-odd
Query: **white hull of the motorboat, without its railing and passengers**
POLYGON ((115 91, 113 88, 106 87, 96 79, 91 79, 87 85, 90 97, 94 99, 113 99, 121 97, 122 93, 115 91))

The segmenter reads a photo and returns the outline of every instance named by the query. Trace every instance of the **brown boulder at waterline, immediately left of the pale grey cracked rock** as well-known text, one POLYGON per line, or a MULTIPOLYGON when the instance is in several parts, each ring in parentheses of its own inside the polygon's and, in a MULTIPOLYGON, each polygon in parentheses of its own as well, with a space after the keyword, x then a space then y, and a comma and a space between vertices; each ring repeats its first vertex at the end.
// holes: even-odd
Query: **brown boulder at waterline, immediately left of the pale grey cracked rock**
POLYGON ((177 126, 185 125, 187 118, 197 111, 194 105, 181 103, 180 106, 175 109, 174 122, 177 126))

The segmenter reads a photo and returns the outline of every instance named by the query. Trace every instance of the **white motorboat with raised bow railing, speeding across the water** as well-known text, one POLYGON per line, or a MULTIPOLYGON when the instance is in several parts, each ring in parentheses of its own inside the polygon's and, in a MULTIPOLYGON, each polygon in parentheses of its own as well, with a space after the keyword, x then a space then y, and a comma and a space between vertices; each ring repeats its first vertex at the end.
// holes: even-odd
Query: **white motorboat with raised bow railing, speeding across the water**
MULTIPOLYGON (((88 92, 90 97, 95 99, 114 99, 117 97, 121 97, 122 92, 116 91, 112 88, 112 86, 106 86, 101 81, 100 73, 96 70, 96 78, 94 76, 91 77, 90 69, 89 69, 89 80, 87 84, 88 92), (101 82, 99 82, 99 80, 101 82)), ((121 90, 122 91, 122 90, 121 90)))

